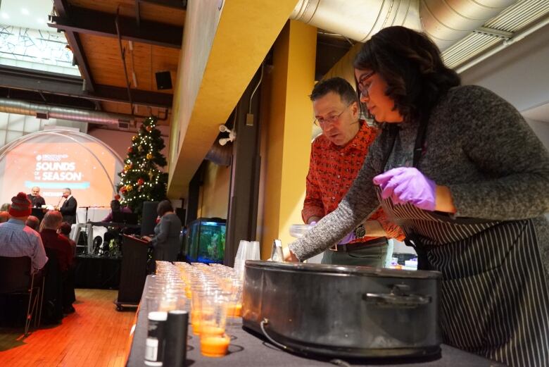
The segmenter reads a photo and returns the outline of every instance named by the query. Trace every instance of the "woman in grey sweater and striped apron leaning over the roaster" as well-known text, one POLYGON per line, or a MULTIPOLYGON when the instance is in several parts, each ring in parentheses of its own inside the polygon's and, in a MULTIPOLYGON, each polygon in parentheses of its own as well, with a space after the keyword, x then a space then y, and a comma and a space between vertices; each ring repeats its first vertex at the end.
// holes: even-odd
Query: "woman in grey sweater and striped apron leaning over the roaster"
POLYGON ((443 275, 440 325, 454 347, 549 366, 549 154, 507 101, 460 86, 426 35, 388 27, 355 59, 381 135, 338 209, 289 245, 303 261, 380 205, 443 275))

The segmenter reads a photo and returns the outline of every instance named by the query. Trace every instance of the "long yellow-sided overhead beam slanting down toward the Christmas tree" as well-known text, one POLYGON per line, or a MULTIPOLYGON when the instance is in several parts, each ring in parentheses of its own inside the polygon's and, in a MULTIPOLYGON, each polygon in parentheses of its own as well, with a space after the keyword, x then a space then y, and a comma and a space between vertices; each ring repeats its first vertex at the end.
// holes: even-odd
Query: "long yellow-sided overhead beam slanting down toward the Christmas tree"
POLYGON ((189 1, 174 90, 168 197, 187 196, 219 125, 227 121, 296 2, 189 1))

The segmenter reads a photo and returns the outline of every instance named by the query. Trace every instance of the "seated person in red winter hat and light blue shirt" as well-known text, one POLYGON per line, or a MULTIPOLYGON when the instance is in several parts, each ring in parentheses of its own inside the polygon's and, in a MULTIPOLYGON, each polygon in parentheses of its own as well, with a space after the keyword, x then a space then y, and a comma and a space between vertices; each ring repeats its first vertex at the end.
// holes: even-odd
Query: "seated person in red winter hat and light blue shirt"
POLYGON ((0 224, 0 256, 31 259, 31 272, 37 273, 48 261, 40 235, 25 225, 30 216, 30 201, 27 194, 20 192, 11 198, 11 218, 0 224))

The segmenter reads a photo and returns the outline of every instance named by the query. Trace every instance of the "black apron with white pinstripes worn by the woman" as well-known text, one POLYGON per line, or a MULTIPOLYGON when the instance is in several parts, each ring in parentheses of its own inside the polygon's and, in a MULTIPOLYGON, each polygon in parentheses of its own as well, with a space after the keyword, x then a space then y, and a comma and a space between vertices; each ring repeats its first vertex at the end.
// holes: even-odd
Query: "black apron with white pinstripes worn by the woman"
POLYGON ((419 268, 443 274, 444 342, 509 366, 548 367, 548 285, 533 221, 453 219, 377 192, 419 268))

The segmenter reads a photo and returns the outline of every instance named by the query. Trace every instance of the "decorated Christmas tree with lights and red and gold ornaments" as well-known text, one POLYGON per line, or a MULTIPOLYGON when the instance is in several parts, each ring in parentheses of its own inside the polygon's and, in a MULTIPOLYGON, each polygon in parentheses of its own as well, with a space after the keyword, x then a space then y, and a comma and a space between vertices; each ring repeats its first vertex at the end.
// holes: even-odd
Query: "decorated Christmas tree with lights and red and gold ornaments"
POLYGON ((146 118, 132 137, 132 146, 127 149, 124 169, 118 173, 118 191, 122 205, 127 205, 141 216, 143 201, 160 201, 166 197, 168 173, 159 168, 166 166, 166 158, 160 151, 165 147, 156 128, 156 118, 146 118))

